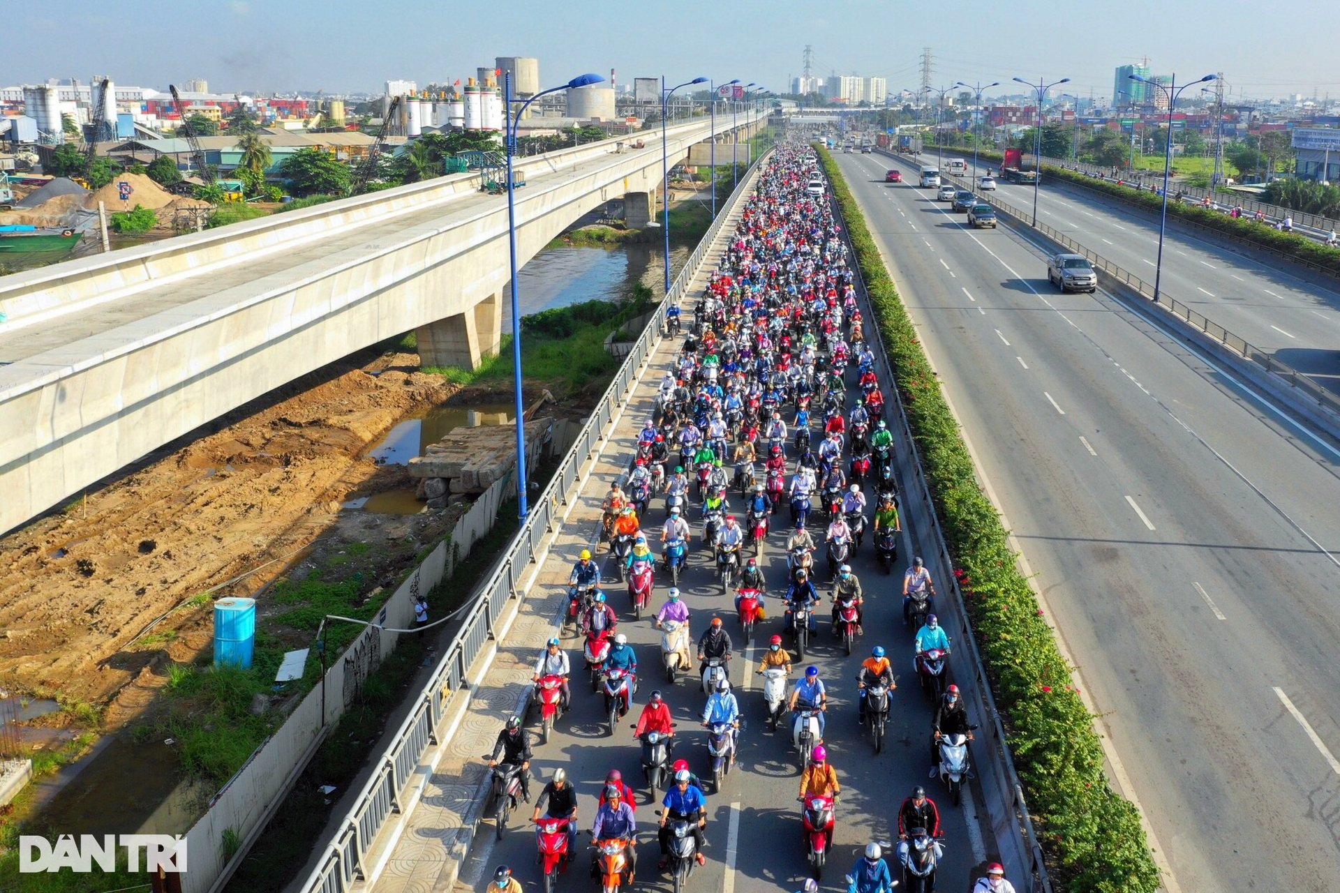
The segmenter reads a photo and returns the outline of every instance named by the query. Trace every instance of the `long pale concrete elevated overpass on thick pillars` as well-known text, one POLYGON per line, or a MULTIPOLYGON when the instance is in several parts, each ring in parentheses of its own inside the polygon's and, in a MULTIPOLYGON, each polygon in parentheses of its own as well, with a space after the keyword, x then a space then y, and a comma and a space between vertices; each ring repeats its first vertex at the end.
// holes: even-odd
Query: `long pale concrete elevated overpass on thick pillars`
MULTIPOLYGON (((736 119, 741 138, 765 119, 736 119)), ((712 138, 671 126, 674 165, 712 138)), ((720 115, 714 135, 732 133, 720 115)), ((517 250, 626 197, 645 222, 659 131, 525 158, 517 250)), ((718 153, 720 155, 720 153, 718 153)), ((496 351, 505 198, 468 173, 70 261, 0 284, 0 532, 292 379, 418 329, 425 363, 496 351)))

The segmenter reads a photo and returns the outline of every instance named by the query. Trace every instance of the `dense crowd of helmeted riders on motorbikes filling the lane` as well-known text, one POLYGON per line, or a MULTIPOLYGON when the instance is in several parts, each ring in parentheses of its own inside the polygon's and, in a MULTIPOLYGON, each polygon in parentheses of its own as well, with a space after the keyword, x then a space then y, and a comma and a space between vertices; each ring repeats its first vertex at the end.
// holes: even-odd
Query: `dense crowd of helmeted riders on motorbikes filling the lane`
MULTIPOLYGON (((580 651, 574 648, 570 665, 565 657, 556 656, 561 652, 553 648, 559 641, 553 639, 552 661, 547 663, 541 653, 536 664, 531 708, 539 719, 541 743, 548 742, 568 706, 578 653, 586 681, 602 699, 606 734, 614 735, 624 722, 643 681, 619 633, 620 623, 630 616, 632 621, 647 617, 659 629, 658 669, 667 685, 694 669, 699 672, 708 699, 702 726, 709 759, 702 779, 691 774, 686 760, 675 759, 674 724, 645 722, 651 702, 661 704, 659 691, 653 692, 645 719, 635 727, 646 789, 653 798, 658 791, 666 797, 663 813, 657 813, 665 823, 661 866, 677 892, 704 861, 701 823, 674 807, 691 802, 691 795, 677 790, 690 778, 690 787, 721 793, 742 728, 738 707, 732 710, 736 695, 730 669, 737 647, 732 633, 718 617, 694 636, 689 611, 679 598, 678 585, 693 540, 710 554, 708 566, 721 593, 734 597, 736 641, 742 640, 745 647, 757 641, 766 648, 757 669, 766 724, 779 731, 789 722, 803 785, 800 827, 815 878, 824 870, 831 849, 839 791, 821 783, 804 787, 807 779, 827 771, 827 699, 813 694, 823 691, 813 667, 793 687, 791 656, 803 661, 825 624, 838 648, 851 655, 864 632, 862 605, 868 592, 863 593, 850 562, 867 541, 886 574, 898 562, 895 444, 886 400, 875 355, 864 337, 843 234, 827 201, 805 189, 815 171, 816 161, 807 147, 780 146, 756 193, 746 199, 725 257, 691 315, 667 308, 666 333, 682 337, 682 349, 659 382, 655 410, 636 435, 626 474, 611 485, 603 505, 600 537, 608 544, 607 561, 614 569, 603 573, 590 552, 583 552, 572 570, 560 631, 580 639, 580 651), (658 521, 651 519, 654 514, 658 521), (777 530, 785 526, 783 518, 789 521, 785 544, 777 530), (781 584, 762 580, 758 560, 769 538, 785 549, 787 578, 781 584), (823 558, 821 565, 816 556, 823 558), (831 586, 831 620, 823 617, 820 577, 831 586), (624 592, 616 593, 615 586, 624 592), (659 611, 658 586, 666 586, 669 596, 659 611), (781 593, 783 629, 765 643, 758 631, 769 616, 769 596, 781 593), (681 797, 687 799, 677 799, 681 797)), ((957 698, 957 688, 949 684, 949 640, 934 623, 934 588, 919 558, 904 574, 903 588, 894 593, 903 596, 909 631, 918 631, 913 664, 919 684, 939 707, 950 691, 957 698)), ((643 665, 641 675, 651 673, 643 665)), ((874 648, 856 680, 862 728, 880 752, 896 687, 883 648, 874 648)), ((966 720, 954 722, 953 728, 937 724, 931 746, 938 760, 935 774, 957 805, 970 773, 967 742, 974 727, 966 720)), ((497 756, 490 803, 501 835, 517 798, 524 795, 519 777, 527 770, 505 759, 498 762, 497 756)), ((606 789, 615 795, 620 790, 606 789)), ((575 813, 536 819, 545 890, 553 889, 575 857, 575 813)), ((934 889, 943 851, 937 833, 938 827, 906 829, 891 853, 890 885, 934 889)), ((872 847, 878 860, 883 850, 872 847)), ((592 839, 591 872, 603 890, 628 889, 632 854, 632 835, 592 839)), ((859 893, 880 889, 879 873, 863 869, 863 862, 847 881, 859 893)))

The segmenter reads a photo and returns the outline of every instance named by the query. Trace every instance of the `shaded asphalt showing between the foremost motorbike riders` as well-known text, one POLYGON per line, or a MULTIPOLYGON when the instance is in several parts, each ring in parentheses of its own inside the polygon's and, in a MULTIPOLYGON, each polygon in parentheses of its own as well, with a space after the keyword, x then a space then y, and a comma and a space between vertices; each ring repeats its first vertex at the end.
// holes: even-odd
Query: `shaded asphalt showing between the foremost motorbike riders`
MULTIPOLYGON (((647 374, 643 379, 645 384, 636 390, 632 398, 634 404, 641 408, 626 415, 628 424, 624 426, 627 430, 622 432, 622 442, 611 447, 611 451, 622 450, 627 461, 631 461, 632 457, 636 439, 635 428, 641 427, 642 419, 650 414, 651 391, 661 378, 659 368, 669 364, 673 356, 667 352, 670 349, 669 343, 665 343, 655 355, 653 371, 647 374)), ((848 391, 848 394, 851 392, 848 391)), ((742 518, 744 514, 738 510, 738 495, 733 497, 732 505, 736 507, 737 519, 742 518)), ((728 631, 732 632, 737 648, 737 659, 732 661, 730 672, 732 680, 736 683, 741 711, 746 718, 746 726, 741 735, 740 763, 726 778, 724 791, 708 795, 708 864, 694 872, 689 886, 690 889, 722 890, 725 893, 732 893, 736 889, 748 892, 795 890, 807 874, 807 858, 800 811, 796 803, 799 770, 791 747, 789 731, 784 727, 783 734, 773 734, 768 731, 764 722, 761 680, 756 681, 758 677, 752 672, 757 668, 753 663, 753 655, 758 645, 745 651, 745 660, 740 659, 741 640, 734 621, 733 600, 721 594, 709 553, 701 549, 702 525, 698 522, 698 507, 697 502, 693 502, 690 507, 694 548, 689 557, 689 570, 681 577, 681 590, 693 612, 690 625, 695 639, 710 623, 713 613, 722 612, 721 616, 728 631)), ((653 502, 650 518, 651 527, 659 530, 659 525, 665 519, 662 499, 658 498, 653 502)), ((784 592, 783 582, 785 580, 784 540, 789 533, 787 518, 785 507, 775 515, 777 523, 773 526, 764 552, 762 564, 770 596, 768 600, 769 616, 756 631, 756 643, 765 643, 773 632, 781 632, 781 616, 777 605, 780 594, 784 592)), ((643 526, 647 526, 646 521, 643 521, 643 526)), ((813 522, 811 527, 813 527, 813 522)), ((839 643, 829 635, 827 624, 821 623, 815 652, 807 655, 804 661, 796 663, 795 667, 793 677, 803 673, 807 664, 816 664, 820 668, 820 679, 828 685, 829 711, 825 744, 843 786, 833 838, 835 857, 823 877, 823 889, 825 890, 846 890, 842 876, 859 858, 867 842, 895 839, 896 810, 915 785, 925 785, 930 797, 941 805, 942 823, 946 831, 945 862, 939 874, 941 889, 969 889, 973 878, 981 876, 988 857, 996 856, 989 841, 982 843, 981 829, 976 821, 976 803, 981 802, 980 789, 976 787, 976 783, 966 790, 963 805, 954 807, 939 782, 929 778, 931 711, 930 703, 919 691, 911 669, 911 640, 915 631, 902 625, 900 596, 902 569, 907 564, 909 549, 919 533, 904 521, 904 534, 899 544, 899 566, 891 576, 884 576, 875 564, 872 540, 867 534, 864 545, 852 561, 852 568, 862 580, 867 600, 866 633, 858 640, 856 651, 851 657, 847 657, 839 648, 839 643), (870 738, 863 735, 856 724, 855 706, 856 669, 876 644, 884 645, 888 651, 899 684, 899 689, 894 692, 888 738, 879 755, 875 755, 870 738)), ((821 540, 821 529, 819 538, 821 540)), ((598 553, 598 557, 603 556, 604 546, 598 553)), ((819 580, 825 584, 820 586, 820 592, 825 597, 821 620, 827 621, 827 565, 821 554, 816 558, 816 566, 820 568, 819 580)), ((616 582, 618 576, 614 572, 614 565, 608 561, 604 576, 606 580, 611 576, 615 580, 614 584, 606 585, 606 590, 620 616, 619 631, 628 635, 630 644, 636 649, 642 671, 641 692, 634 711, 616 730, 615 736, 607 736, 603 698, 591 694, 587 676, 580 668, 582 643, 576 637, 565 637, 564 648, 574 661, 572 695, 575 708, 560 719, 549 743, 536 747, 532 768, 539 778, 532 781, 532 789, 537 794, 540 785, 548 781, 556 767, 565 767, 570 779, 575 781, 578 786, 580 825, 583 829, 590 829, 595 817, 600 782, 610 768, 619 768, 624 779, 639 791, 638 819, 642 829, 639 886, 643 889, 670 889, 669 876, 658 876, 655 870, 658 849, 654 833, 654 810, 659 809, 661 795, 657 795, 655 806, 649 805, 650 795, 641 782, 641 746, 632 738, 632 730, 628 726, 636 719, 636 711, 641 711, 651 689, 659 688, 678 723, 677 735, 681 740, 675 748, 675 758, 687 759, 695 773, 706 777, 709 775, 706 730, 698 724, 706 698, 699 688, 697 673, 689 679, 681 679, 674 685, 665 684, 659 669, 659 631, 654 629, 651 619, 634 621, 631 616, 626 616, 627 594, 624 588, 616 582)), ((657 608, 665 601, 667 585, 667 578, 658 574, 653 598, 657 608)), ((535 643, 536 652, 539 652, 540 644, 535 643)), ((528 727, 535 728, 533 715, 528 727)), ((531 829, 517 826, 520 822, 528 821, 529 815, 531 807, 521 807, 513 818, 513 830, 505 834, 501 841, 494 841, 492 819, 481 825, 469 862, 461 873, 462 884, 469 889, 482 889, 481 881, 492 876, 493 868, 498 864, 508 864, 516 869, 517 877, 523 880, 527 889, 537 889, 535 835, 531 829)), ((563 880, 563 889, 590 885, 586 878, 588 866, 586 843, 590 838, 583 834, 580 841, 579 860, 570 872, 575 873, 575 877, 563 880)))

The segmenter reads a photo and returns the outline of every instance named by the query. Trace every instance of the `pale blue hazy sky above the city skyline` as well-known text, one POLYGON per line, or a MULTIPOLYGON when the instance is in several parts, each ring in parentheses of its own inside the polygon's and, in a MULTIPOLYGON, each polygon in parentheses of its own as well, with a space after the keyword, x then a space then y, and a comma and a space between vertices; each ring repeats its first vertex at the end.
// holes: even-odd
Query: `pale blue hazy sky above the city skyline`
POLYGON ((1240 90, 1340 98, 1336 8, 1320 0, 1277 8, 1248 0, 4 0, 0 84, 106 74, 158 88, 206 78, 213 91, 373 92, 387 79, 445 82, 517 55, 540 59, 545 87, 616 68, 624 83, 704 75, 780 91, 801 72, 809 44, 815 74, 883 75, 891 92, 918 86, 929 46, 938 87, 1001 80, 1017 92, 1016 75, 1069 76, 1063 90, 1110 96, 1112 70, 1148 56, 1155 74, 1175 72, 1178 82, 1222 71, 1233 98, 1240 90))

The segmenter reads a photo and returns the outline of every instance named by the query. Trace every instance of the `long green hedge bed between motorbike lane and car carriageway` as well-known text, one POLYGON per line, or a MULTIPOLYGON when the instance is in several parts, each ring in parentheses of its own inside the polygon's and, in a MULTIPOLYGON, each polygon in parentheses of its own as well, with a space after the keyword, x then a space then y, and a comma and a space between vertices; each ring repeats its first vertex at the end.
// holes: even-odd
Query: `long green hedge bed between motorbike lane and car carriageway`
POLYGON ((1016 565, 1000 514, 977 482, 898 289, 832 155, 817 151, 898 376, 1052 881, 1077 893, 1152 893, 1159 872, 1139 813, 1108 785, 1093 716, 1016 565))

